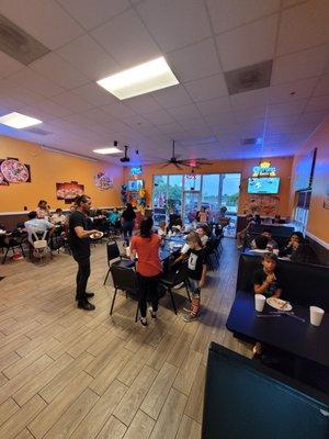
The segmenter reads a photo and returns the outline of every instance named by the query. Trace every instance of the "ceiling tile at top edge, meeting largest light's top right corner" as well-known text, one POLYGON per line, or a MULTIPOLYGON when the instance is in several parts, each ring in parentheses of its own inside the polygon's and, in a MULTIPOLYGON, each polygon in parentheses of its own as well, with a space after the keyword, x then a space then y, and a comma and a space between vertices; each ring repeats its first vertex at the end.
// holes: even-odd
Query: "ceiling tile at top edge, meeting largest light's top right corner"
POLYGON ((200 0, 146 0, 137 10, 164 52, 211 36, 206 10, 200 0))

